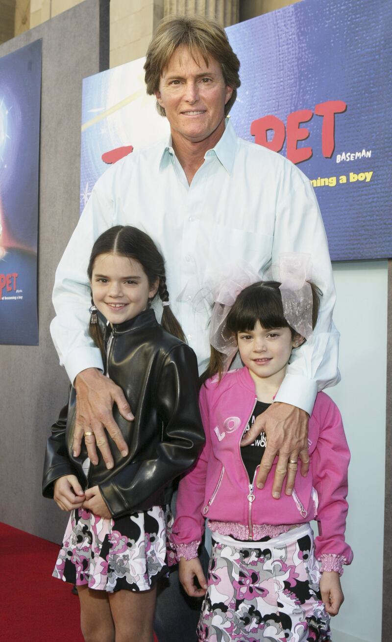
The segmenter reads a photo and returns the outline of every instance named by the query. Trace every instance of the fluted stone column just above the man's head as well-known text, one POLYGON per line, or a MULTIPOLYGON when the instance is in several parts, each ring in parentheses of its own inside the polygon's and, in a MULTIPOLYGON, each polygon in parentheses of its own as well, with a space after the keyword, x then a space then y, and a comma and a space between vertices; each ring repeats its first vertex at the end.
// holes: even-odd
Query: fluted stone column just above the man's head
POLYGON ((240 18, 240 0, 165 0, 165 15, 208 15, 228 27, 240 18))

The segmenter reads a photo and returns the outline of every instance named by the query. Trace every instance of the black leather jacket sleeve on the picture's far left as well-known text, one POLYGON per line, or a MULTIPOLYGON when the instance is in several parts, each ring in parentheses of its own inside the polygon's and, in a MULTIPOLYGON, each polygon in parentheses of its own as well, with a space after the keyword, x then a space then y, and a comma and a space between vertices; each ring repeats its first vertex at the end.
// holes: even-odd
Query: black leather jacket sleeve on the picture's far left
MULTIPOLYGON (((53 499, 54 482, 64 475, 76 475, 79 478, 78 471, 70 462, 67 440, 65 431, 67 428, 69 404, 61 408, 60 415, 56 423, 52 426, 51 436, 47 440, 44 474, 42 476, 42 494, 44 497, 53 499)), ((79 479, 83 486, 86 480, 79 479)))

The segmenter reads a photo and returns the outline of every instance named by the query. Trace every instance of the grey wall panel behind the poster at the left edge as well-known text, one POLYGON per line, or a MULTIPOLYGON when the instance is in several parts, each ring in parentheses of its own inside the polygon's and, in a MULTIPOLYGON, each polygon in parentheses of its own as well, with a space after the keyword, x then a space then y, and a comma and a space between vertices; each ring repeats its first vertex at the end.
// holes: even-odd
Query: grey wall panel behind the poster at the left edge
POLYGON ((49 335, 51 290, 79 216, 82 79, 109 66, 108 25, 108 1, 86 0, 0 46, 3 56, 42 39, 39 345, 0 345, 0 521, 52 541, 67 516, 41 496, 42 465, 68 381, 49 335))

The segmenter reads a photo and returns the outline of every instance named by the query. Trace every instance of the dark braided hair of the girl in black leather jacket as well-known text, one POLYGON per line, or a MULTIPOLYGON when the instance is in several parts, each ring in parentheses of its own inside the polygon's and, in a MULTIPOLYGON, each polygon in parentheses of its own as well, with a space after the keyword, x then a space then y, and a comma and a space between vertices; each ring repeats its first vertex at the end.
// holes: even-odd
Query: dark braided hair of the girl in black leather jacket
MULTIPOLYGON (((165 261, 148 234, 145 234, 145 232, 142 232, 142 230, 132 225, 116 225, 115 227, 110 227, 106 232, 103 232, 103 234, 97 238, 92 248, 87 268, 89 281, 92 279, 95 259, 101 254, 118 254, 119 256, 126 256, 129 259, 138 261, 147 276, 150 288, 152 288, 157 279, 159 279, 157 291, 159 299, 161 299, 162 302, 169 301, 165 261)), ((155 297, 156 295, 152 297, 152 299, 155 297)), ((186 343, 183 329, 172 313, 170 306, 163 307, 161 325, 165 330, 186 343)), ((95 345, 99 347, 103 354, 104 345, 99 323, 92 324, 90 320, 89 333, 95 345)))

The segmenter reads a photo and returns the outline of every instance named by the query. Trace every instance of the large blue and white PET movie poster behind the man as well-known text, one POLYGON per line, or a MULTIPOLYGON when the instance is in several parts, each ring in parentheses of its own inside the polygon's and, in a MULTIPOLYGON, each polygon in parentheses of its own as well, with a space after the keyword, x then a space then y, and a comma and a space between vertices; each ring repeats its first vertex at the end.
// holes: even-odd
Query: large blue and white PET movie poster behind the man
MULTIPOLYGON (((241 62, 234 128, 311 180, 334 261, 392 256, 391 26, 392 3, 303 0, 226 30, 241 62)), ((81 209, 108 163, 167 135, 143 63, 83 83, 81 209)))

